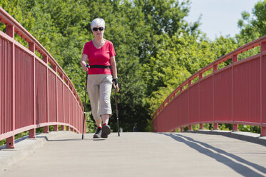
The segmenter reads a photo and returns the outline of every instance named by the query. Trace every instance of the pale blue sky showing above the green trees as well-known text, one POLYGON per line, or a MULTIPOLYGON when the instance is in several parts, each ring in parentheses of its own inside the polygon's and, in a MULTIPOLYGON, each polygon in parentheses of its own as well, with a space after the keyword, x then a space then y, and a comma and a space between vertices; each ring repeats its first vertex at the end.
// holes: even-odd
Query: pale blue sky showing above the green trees
POLYGON ((200 30, 208 38, 235 36, 240 32, 237 21, 242 19, 242 11, 251 14, 255 4, 260 0, 190 0, 190 12, 185 20, 195 22, 200 19, 200 30))

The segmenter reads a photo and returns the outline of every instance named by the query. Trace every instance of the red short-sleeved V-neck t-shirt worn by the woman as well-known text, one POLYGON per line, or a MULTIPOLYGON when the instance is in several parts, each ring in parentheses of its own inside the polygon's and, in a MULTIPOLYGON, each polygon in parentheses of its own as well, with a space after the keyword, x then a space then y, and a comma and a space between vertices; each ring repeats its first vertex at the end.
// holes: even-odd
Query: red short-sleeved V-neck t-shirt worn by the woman
MULTIPOLYGON (((83 49, 83 53, 88 56, 88 63, 90 65, 104 65, 111 66, 110 58, 116 55, 113 49, 113 43, 106 40, 106 43, 100 49, 97 49, 93 41, 88 41, 83 49)), ((112 74, 111 69, 88 69, 88 74, 112 74)))

